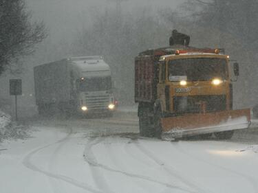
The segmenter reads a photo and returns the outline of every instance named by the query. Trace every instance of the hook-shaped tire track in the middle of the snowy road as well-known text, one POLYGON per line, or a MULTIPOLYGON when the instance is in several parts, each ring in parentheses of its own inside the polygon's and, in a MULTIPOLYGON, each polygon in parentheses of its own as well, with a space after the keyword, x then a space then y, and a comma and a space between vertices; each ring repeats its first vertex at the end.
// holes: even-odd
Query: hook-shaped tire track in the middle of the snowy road
MULTIPOLYGON (((118 174, 123 174, 127 177, 142 179, 142 180, 145 180, 145 181, 149 181, 151 183, 158 183, 160 185, 164 185, 167 188, 171 188, 172 190, 177 189, 177 190, 186 191, 186 190, 184 190, 183 188, 181 188, 177 185, 171 185, 169 183, 163 183, 161 181, 157 181, 155 179, 152 179, 151 177, 146 177, 146 176, 143 176, 143 175, 140 175, 140 174, 132 174, 132 173, 125 172, 125 171, 122 171, 122 170, 117 170, 117 169, 111 168, 109 166, 105 166, 102 163, 98 163, 98 161, 96 161, 96 159, 93 157, 94 155, 93 155, 93 152, 92 152, 91 149, 92 149, 92 146, 95 146, 99 142, 100 141, 92 141, 92 143, 87 145, 86 148, 85 148, 85 152, 84 152, 83 157, 84 157, 85 161, 87 161, 87 163, 89 163, 89 165, 94 166, 94 167, 102 168, 103 170, 107 170, 109 172, 116 172, 118 174)), ((190 192, 190 191, 187 191, 187 192, 190 192)))

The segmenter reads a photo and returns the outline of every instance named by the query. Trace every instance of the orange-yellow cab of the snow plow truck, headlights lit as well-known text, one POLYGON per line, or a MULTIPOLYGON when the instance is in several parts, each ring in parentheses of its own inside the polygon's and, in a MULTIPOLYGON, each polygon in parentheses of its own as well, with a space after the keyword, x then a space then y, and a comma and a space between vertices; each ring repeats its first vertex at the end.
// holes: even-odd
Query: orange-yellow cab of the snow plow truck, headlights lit
POLYGON ((157 92, 164 113, 182 115, 233 109, 228 59, 224 54, 180 51, 162 56, 157 92))

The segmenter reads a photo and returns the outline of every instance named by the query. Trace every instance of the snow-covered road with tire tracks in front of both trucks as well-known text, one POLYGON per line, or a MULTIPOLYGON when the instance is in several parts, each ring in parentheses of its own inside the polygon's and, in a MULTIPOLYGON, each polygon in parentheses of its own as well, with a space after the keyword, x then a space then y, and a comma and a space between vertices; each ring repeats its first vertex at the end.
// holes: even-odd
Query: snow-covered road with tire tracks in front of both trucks
POLYGON ((0 192, 258 192, 258 146, 160 141, 135 115, 41 120, 31 138, 0 144, 0 192))

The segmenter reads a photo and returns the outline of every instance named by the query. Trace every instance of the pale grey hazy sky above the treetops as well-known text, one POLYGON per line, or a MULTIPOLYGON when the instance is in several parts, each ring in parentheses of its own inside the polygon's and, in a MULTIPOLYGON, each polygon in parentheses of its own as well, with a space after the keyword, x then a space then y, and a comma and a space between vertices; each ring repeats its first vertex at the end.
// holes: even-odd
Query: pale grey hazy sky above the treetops
MULTIPOLYGON (((35 19, 45 21, 53 39, 72 38, 81 25, 90 23, 96 10, 116 8, 116 0, 26 0, 35 19)), ((124 0, 122 11, 133 12, 138 7, 176 8, 183 1, 124 0)), ((153 10, 150 10, 153 12, 153 10)))

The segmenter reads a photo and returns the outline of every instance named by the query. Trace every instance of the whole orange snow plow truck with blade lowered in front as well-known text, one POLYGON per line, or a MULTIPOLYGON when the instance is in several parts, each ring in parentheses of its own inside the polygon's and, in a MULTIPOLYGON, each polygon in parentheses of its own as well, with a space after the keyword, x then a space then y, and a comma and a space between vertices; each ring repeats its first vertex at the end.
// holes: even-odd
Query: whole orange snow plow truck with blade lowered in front
MULTIPOLYGON (((235 79, 239 65, 234 63, 235 79)), ((229 56, 223 49, 172 45, 135 58, 140 135, 230 139, 250 126, 250 109, 233 110, 229 56)))

